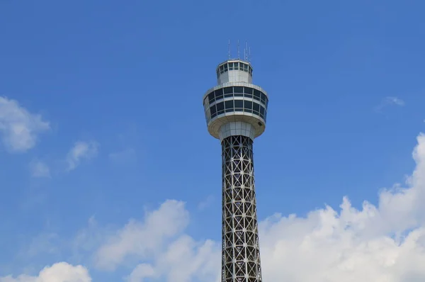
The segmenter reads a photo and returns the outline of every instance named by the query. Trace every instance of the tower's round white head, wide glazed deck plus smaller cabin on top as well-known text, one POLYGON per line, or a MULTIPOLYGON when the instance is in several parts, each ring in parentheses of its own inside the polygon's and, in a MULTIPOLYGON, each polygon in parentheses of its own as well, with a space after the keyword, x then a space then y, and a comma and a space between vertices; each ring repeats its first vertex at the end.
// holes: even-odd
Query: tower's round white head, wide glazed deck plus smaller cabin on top
POLYGON ((220 140, 231 135, 254 140, 266 129, 268 94, 252 84, 249 62, 227 60, 216 71, 218 85, 203 96, 208 131, 220 140))

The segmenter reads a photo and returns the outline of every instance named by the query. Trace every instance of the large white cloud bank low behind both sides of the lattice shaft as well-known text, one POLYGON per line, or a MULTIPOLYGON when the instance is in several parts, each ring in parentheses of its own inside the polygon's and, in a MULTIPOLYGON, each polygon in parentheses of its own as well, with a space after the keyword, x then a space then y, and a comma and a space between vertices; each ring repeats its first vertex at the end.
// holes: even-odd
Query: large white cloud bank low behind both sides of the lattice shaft
MULTIPOLYGON (((305 217, 276 213, 261 221, 263 281, 425 281, 425 135, 417 142, 416 167, 405 187, 380 191, 377 205, 364 201, 357 209, 344 197, 339 208, 325 206, 305 217)), ((131 266, 127 282, 219 282, 220 242, 194 239, 185 232, 188 224, 184 203, 165 201, 143 220, 103 236, 90 269, 131 266)), ((82 266, 67 267, 67 273, 80 267, 84 277, 67 281, 90 281, 82 266)), ((59 281, 42 278, 43 271, 33 281, 59 281)), ((19 277, 0 282, 24 281, 19 277)))

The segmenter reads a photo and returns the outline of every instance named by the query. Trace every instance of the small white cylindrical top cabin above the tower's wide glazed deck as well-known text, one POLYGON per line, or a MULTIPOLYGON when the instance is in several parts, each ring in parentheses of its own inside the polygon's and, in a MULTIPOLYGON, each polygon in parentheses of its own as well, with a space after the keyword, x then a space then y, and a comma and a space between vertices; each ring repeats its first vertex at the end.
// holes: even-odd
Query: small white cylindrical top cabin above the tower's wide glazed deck
POLYGON ((252 83, 252 66, 243 60, 227 60, 217 67, 217 84, 227 82, 252 83))

